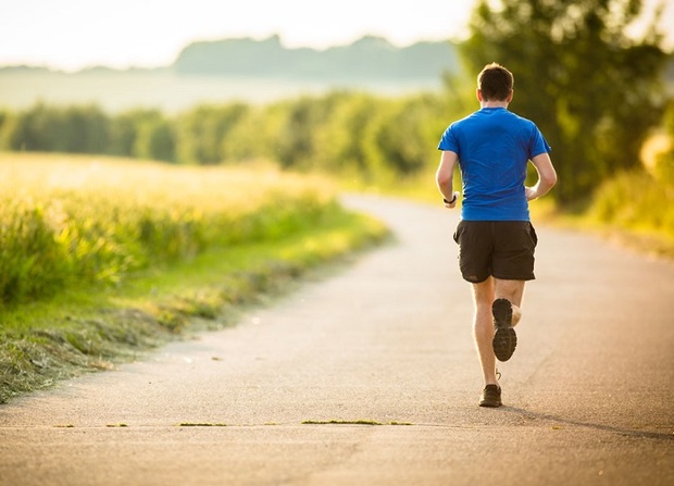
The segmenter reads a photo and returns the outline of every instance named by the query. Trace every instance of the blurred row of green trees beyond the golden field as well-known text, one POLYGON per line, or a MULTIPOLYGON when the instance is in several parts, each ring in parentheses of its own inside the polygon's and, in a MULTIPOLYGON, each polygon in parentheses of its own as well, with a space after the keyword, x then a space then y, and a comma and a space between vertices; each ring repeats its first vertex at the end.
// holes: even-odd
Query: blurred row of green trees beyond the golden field
POLYGON ((173 116, 39 103, 0 114, 0 149, 197 165, 271 160, 298 171, 404 176, 436 162, 444 107, 433 94, 388 99, 351 91, 264 107, 199 105, 173 116))

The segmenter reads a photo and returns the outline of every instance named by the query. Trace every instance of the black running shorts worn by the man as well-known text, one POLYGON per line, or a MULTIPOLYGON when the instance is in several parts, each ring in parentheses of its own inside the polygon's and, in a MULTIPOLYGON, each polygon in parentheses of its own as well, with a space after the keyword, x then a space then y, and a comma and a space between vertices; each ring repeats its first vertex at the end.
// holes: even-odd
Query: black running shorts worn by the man
POLYGON ((454 233, 459 267, 473 284, 489 276, 533 281, 536 230, 528 221, 461 221, 454 233))

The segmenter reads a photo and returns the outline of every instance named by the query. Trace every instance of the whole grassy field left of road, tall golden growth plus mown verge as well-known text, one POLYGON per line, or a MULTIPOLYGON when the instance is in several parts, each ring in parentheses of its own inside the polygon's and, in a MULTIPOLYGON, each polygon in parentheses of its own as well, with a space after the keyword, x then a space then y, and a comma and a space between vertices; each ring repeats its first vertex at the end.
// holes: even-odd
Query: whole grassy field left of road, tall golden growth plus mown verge
POLYGON ((0 402, 107 369, 386 236, 323 178, 0 154, 0 402))

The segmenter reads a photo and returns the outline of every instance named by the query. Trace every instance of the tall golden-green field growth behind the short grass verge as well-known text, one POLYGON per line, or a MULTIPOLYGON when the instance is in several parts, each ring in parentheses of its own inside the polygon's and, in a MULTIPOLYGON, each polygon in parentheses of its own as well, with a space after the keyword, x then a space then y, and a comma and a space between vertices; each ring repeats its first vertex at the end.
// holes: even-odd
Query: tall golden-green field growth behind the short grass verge
POLYGON ((0 157, 5 304, 274 240, 335 210, 327 183, 278 172, 43 159, 0 157))

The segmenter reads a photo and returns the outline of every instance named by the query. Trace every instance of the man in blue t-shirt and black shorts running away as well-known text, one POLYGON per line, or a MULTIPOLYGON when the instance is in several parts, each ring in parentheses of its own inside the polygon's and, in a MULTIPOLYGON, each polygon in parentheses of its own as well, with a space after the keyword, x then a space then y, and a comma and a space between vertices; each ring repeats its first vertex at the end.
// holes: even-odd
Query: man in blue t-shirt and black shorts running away
POLYGON ((502 404, 496 359, 508 361, 515 350, 524 283, 535 278, 537 237, 528 201, 557 183, 550 146, 538 127, 508 110, 513 84, 506 67, 486 65, 477 76, 480 109, 452 123, 438 146, 436 183, 446 208, 454 208, 459 196, 452 186, 457 163, 463 184, 454 240, 461 274, 473 285, 473 334, 485 381, 480 407, 502 404), (525 187, 529 160, 538 180, 525 187))

